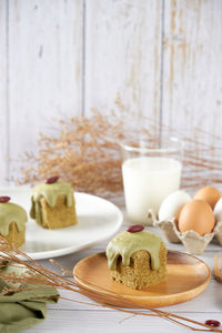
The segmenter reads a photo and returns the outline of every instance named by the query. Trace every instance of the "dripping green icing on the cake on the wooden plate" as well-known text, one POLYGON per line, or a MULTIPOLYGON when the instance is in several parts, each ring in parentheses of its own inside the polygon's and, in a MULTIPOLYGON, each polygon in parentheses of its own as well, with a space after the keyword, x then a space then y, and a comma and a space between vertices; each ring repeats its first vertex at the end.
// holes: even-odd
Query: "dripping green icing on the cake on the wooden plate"
POLYGON ((108 265, 110 270, 115 270, 119 255, 122 258, 123 265, 129 265, 133 252, 145 250, 150 253, 152 270, 158 270, 160 266, 159 252, 161 242, 161 238, 149 231, 143 230, 134 233, 124 231, 108 244, 108 265))

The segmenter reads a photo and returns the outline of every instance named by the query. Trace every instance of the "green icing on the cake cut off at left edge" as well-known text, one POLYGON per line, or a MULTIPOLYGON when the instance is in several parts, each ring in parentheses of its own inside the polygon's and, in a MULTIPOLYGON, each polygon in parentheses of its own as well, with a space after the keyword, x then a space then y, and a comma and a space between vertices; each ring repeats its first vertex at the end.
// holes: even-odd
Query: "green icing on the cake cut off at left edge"
POLYGON ((0 203, 0 234, 9 234, 11 222, 17 224, 19 231, 24 230, 28 221, 27 212, 22 206, 12 202, 0 203))

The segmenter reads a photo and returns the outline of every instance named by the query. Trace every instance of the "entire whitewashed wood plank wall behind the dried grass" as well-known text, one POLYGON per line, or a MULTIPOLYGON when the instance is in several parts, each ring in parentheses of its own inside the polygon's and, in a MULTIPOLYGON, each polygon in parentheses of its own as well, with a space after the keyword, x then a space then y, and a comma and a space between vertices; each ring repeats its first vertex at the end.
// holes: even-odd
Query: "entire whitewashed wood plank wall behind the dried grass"
POLYGON ((117 92, 157 124, 221 135, 221 0, 0 0, 0 185, 54 119, 117 92))

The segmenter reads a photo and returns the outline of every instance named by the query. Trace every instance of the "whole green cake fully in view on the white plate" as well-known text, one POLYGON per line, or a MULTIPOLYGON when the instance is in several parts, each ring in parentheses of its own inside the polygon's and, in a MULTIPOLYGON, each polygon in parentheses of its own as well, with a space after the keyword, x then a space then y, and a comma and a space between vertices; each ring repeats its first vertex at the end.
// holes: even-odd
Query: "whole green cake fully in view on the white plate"
POLYGON ((30 216, 46 229, 59 229, 78 223, 73 189, 58 176, 32 189, 30 216))

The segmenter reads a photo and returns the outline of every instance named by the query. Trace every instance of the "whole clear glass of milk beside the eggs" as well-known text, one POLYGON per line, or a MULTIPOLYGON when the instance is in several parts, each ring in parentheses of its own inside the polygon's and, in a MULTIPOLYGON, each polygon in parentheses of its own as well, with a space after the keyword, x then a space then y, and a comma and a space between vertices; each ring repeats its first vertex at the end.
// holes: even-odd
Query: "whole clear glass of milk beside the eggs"
POLYGON ((152 224, 149 211, 158 215, 164 198, 180 188, 183 142, 170 138, 157 143, 140 140, 121 145, 128 218, 131 223, 152 224))

